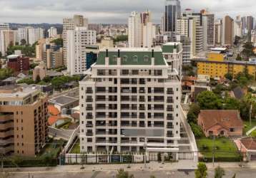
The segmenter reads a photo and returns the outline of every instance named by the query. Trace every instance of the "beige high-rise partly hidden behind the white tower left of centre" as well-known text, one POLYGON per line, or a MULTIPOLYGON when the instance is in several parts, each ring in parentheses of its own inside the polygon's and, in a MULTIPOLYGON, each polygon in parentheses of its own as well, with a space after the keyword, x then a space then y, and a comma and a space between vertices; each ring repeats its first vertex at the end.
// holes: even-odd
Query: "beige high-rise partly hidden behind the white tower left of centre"
POLYGON ((74 30, 76 27, 83 26, 85 28, 88 28, 88 19, 84 18, 84 16, 74 15, 73 18, 65 18, 63 19, 63 32, 62 32, 62 38, 63 38, 63 61, 64 66, 67 66, 67 31, 74 30))

